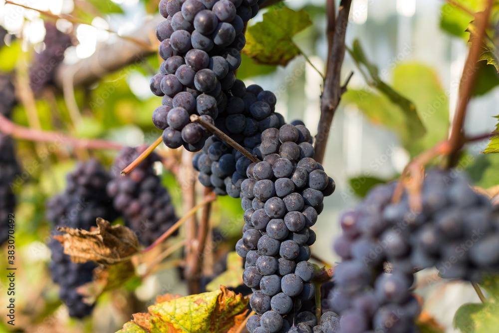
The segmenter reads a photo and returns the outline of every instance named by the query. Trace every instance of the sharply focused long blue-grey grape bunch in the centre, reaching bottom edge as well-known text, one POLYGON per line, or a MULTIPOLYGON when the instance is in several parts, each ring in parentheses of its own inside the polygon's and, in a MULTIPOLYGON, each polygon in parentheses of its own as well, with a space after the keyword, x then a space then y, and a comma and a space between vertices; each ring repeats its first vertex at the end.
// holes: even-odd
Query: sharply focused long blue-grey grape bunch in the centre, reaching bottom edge
POLYGON ((335 185, 313 159, 309 131, 295 124, 263 131, 263 161, 248 166, 241 185, 246 224, 236 251, 246 258, 243 280, 253 290, 250 332, 312 332, 317 326, 304 306, 315 298, 310 228, 335 185))

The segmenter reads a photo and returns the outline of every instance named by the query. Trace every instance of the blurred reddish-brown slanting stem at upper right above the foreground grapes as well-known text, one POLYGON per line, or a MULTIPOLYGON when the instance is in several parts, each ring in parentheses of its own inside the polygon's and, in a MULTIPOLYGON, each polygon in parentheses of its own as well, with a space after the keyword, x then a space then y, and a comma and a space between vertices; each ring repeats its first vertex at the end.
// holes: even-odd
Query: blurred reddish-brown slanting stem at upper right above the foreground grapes
POLYGON ((449 137, 449 142, 451 145, 451 151, 449 153, 448 159, 449 166, 452 166, 457 161, 456 157, 458 151, 463 147, 464 144, 463 126, 466 117, 466 110, 468 108, 468 102, 470 101, 477 78, 477 62, 482 52, 482 45, 485 38, 487 26, 489 25, 493 2, 493 0, 488 0, 487 8, 484 10, 484 12, 480 13, 480 15, 478 13, 475 14, 477 17, 477 34, 474 35, 473 32, 471 33, 471 47, 468 53, 468 58, 465 62, 465 66, 463 68, 461 82, 459 84, 458 105, 456 107, 456 113, 452 122, 451 135, 449 137))

